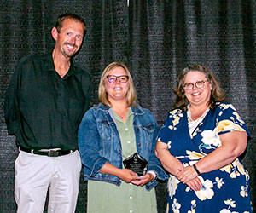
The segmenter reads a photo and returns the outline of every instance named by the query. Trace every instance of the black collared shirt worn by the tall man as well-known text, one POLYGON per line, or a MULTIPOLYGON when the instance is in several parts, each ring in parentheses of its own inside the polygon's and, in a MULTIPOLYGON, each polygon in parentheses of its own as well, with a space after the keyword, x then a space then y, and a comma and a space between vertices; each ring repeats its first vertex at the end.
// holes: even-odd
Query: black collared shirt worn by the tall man
POLYGON ((77 132, 90 103, 90 74, 71 62, 61 78, 51 55, 20 60, 9 83, 4 116, 9 135, 30 149, 78 148, 77 132))

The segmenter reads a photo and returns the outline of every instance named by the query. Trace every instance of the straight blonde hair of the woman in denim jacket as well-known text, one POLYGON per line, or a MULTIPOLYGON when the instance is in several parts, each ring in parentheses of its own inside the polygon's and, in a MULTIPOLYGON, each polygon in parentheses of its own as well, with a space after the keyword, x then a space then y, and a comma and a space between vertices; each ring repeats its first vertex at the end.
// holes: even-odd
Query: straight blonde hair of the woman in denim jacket
POLYGON ((127 95, 126 95, 127 104, 128 104, 129 107, 130 106, 137 107, 136 104, 135 104, 135 103, 138 103, 137 95, 136 95, 136 90, 134 88, 134 84, 133 84, 133 81, 132 81, 132 78, 131 78, 131 73, 129 72, 127 66, 125 66, 124 63, 119 62, 119 61, 112 62, 102 72, 102 77, 101 77, 100 84, 99 84, 99 89, 98 89, 99 101, 105 106, 112 107, 110 101, 108 101, 108 93, 106 91, 105 86, 106 86, 106 79, 107 79, 108 74, 115 67, 124 68, 128 78, 129 78, 128 79, 129 89, 128 89, 128 92, 127 92, 127 95))

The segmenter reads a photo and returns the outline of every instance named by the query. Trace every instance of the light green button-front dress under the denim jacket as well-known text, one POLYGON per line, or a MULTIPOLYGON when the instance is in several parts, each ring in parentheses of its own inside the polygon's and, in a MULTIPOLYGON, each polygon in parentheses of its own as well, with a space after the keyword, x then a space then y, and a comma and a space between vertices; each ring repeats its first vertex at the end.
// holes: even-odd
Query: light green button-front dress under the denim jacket
MULTIPOLYGON (((133 112, 128 111, 124 123, 113 112, 122 145, 122 157, 136 153, 133 130, 133 112)), ((155 190, 149 192, 145 187, 137 187, 122 181, 120 187, 103 181, 88 181, 88 213, 156 213, 155 190)))

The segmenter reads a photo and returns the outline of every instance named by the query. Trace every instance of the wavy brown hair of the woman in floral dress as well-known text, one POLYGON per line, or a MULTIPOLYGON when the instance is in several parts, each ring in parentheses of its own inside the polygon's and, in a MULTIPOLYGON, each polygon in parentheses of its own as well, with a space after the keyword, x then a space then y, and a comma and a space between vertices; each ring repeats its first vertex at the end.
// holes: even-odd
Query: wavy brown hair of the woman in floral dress
POLYGON ((173 89, 176 95, 176 101, 173 108, 180 108, 183 111, 187 111, 187 106, 189 104, 188 99, 185 96, 185 91, 183 88, 184 78, 189 72, 202 72, 209 83, 212 84, 211 97, 209 101, 209 106, 211 109, 215 107, 215 103, 218 101, 224 101, 224 89, 222 89, 218 83, 217 78, 215 78, 212 71, 210 71, 208 66, 204 65, 194 65, 188 66, 183 69, 183 71, 178 76, 177 88, 173 89))

